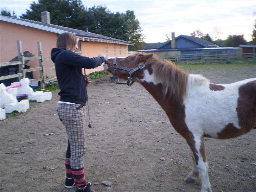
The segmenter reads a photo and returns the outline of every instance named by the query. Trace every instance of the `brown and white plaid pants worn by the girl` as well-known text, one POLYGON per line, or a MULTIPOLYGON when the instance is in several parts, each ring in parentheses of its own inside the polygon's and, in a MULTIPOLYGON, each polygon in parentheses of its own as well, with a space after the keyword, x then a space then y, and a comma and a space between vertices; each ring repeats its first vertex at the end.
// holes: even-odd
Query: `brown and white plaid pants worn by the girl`
POLYGON ((83 155, 85 143, 85 107, 77 109, 80 104, 58 103, 58 115, 66 128, 68 148, 66 161, 70 161, 71 169, 84 167, 83 155))

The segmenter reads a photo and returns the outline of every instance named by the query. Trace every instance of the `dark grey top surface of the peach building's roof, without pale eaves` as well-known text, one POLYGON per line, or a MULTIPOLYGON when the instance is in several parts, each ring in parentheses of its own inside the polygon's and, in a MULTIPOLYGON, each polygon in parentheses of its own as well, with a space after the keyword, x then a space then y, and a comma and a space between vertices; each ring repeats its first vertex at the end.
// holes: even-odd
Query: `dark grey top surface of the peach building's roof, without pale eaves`
POLYGON ((43 22, 40 22, 40 21, 34 21, 34 20, 29 20, 29 19, 19 19, 19 18, 8 17, 8 16, 3 16, 3 15, 1 15, 1 17, 16 19, 16 20, 20 20, 20 21, 26 21, 28 23, 33 23, 33 24, 37 24, 37 25, 41 25, 41 26, 55 28, 57 30, 63 30, 63 31, 66 31, 66 32, 75 33, 77 36, 81 36, 81 37, 101 38, 101 39, 107 39, 107 40, 121 41, 123 43, 128 43, 128 44, 134 44, 134 43, 130 43, 128 41, 124 41, 124 40, 121 40, 121 39, 115 39, 115 38, 112 38, 112 37, 107 37, 107 36, 103 36, 103 35, 100 35, 100 34, 85 32, 85 31, 82 31, 82 30, 73 29, 73 28, 69 28, 69 27, 63 27, 63 26, 59 26, 59 25, 46 24, 46 23, 43 23, 43 22))

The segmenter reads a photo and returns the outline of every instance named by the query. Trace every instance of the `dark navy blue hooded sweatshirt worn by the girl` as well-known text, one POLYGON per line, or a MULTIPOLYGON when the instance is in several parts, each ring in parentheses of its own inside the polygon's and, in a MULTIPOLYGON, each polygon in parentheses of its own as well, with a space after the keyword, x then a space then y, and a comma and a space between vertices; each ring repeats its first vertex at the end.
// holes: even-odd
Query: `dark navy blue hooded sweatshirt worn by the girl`
POLYGON ((60 87, 60 101, 85 106, 88 99, 87 82, 82 69, 92 69, 104 62, 104 57, 83 57, 65 48, 53 48, 51 59, 55 63, 56 76, 60 87))

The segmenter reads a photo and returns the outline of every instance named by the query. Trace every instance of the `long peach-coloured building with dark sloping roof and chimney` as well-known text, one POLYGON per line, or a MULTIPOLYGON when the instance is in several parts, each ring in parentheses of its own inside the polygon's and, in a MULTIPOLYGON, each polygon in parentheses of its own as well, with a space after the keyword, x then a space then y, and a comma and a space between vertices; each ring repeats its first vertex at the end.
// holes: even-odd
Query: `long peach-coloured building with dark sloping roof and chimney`
MULTIPOLYGON (((42 22, 28 19, 18 19, 0 15, 0 62, 8 62, 18 55, 17 40, 22 41, 22 51, 29 51, 35 56, 38 55, 37 41, 41 42, 44 58, 50 57, 53 47, 56 47, 56 40, 59 34, 70 32, 79 38, 79 51, 82 56, 97 57, 99 53, 106 53, 108 56, 125 57, 128 55, 128 45, 134 45, 128 41, 115 39, 100 34, 90 33, 73 28, 50 24, 49 12, 41 12, 42 22)), ((31 60, 27 65, 31 68, 38 67, 37 60, 31 60)), ((51 60, 44 62, 45 67, 53 66, 51 60)), ((103 70, 100 66, 94 70, 87 70, 86 73, 103 70)), ((55 75, 55 70, 49 70, 49 76, 55 75)), ((39 72, 33 72, 33 78, 39 77, 39 72)))

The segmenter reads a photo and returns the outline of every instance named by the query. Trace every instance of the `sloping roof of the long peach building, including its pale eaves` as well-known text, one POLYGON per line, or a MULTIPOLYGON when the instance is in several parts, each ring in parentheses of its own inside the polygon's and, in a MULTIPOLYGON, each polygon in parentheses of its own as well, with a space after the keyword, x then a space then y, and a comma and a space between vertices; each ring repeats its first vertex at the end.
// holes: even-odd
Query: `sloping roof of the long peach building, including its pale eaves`
POLYGON ((46 24, 40 21, 34 21, 29 19, 19 19, 15 17, 8 17, 0 15, 1 21, 6 21, 10 23, 15 23, 18 25, 24 25, 28 27, 37 28, 44 31, 49 31, 57 34, 61 34, 64 32, 70 32, 76 34, 76 36, 79 37, 79 40, 82 41, 98 41, 98 42, 105 42, 105 43, 116 43, 116 44, 124 44, 124 45, 135 45, 135 43, 130 43, 128 41, 124 41, 121 39, 115 39, 112 37, 103 36, 96 33, 86 32, 78 29, 73 29, 69 27, 63 27, 59 25, 53 25, 53 24, 46 24))

